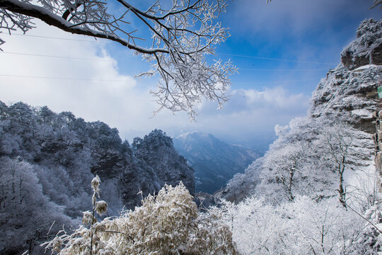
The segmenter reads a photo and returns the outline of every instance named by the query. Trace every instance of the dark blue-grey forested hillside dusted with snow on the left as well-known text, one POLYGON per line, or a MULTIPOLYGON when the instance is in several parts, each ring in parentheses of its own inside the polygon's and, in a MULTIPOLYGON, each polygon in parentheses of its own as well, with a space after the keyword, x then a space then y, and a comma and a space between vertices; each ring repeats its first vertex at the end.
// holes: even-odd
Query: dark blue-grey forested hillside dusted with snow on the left
POLYGON ((105 123, 21 102, 0 102, 0 169, 0 254, 34 247, 52 222, 56 232, 77 225, 91 206, 96 174, 109 216, 134 208, 165 183, 183 181, 190 193, 195 190, 193 170, 161 130, 130 146, 105 123))

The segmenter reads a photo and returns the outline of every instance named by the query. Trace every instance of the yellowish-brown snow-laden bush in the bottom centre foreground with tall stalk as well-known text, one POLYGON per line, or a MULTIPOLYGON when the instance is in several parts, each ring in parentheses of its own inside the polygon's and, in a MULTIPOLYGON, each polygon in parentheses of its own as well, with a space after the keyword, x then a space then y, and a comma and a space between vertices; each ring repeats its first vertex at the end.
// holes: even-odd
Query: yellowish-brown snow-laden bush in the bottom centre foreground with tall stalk
POLYGON ((96 222, 95 212, 100 212, 97 181, 97 177, 92 181, 93 213, 84 212, 83 225, 72 234, 62 230, 45 244, 47 249, 61 255, 238 254, 220 213, 199 215, 183 183, 165 185, 156 196, 144 198, 140 207, 96 222))

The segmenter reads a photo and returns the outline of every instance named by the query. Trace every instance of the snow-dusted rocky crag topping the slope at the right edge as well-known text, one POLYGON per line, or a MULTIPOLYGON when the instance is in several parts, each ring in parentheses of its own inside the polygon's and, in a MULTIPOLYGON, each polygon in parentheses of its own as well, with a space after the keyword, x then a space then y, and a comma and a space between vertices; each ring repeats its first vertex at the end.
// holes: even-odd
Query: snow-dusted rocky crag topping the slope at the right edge
POLYGON ((366 20, 357 29, 357 39, 342 51, 342 62, 330 69, 313 91, 311 116, 342 120, 359 130, 374 133, 382 72, 382 21, 366 20))

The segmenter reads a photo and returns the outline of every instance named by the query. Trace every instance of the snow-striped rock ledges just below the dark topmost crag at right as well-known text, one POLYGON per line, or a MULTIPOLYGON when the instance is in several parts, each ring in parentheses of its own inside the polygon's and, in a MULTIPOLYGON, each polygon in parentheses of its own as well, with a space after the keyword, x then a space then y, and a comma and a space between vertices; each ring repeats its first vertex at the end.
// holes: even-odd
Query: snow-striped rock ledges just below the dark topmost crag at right
POLYGON ((342 120, 359 130, 375 132, 371 121, 376 111, 381 71, 382 66, 376 65, 349 70, 339 64, 331 69, 313 92, 311 116, 342 120))

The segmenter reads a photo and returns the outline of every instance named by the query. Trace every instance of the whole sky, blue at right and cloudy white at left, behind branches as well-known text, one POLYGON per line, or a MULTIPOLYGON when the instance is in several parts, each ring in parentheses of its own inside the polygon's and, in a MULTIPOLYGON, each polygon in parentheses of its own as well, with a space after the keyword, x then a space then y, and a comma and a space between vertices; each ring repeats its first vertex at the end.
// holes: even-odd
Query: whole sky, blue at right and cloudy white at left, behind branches
MULTIPOLYGON (((38 21, 28 36, 2 34, 6 44, 0 53, 0 100, 46 105, 57 112, 72 111, 87 121, 101 120, 130 141, 161 128, 168 135, 199 130, 233 144, 264 147, 272 140, 274 125, 306 115, 311 92, 328 69, 340 62, 340 52, 354 40, 359 23, 365 18, 380 19, 382 13, 378 8, 369 10, 371 0, 273 0, 270 4, 235 0, 228 4, 219 21, 231 28, 231 37, 216 47, 216 58, 231 59, 239 74, 231 77, 231 100, 226 106, 216 111, 216 103, 202 103, 196 123, 189 123, 185 113, 169 111, 151 118, 156 104, 149 90, 155 89, 156 79, 134 79, 149 64, 131 51, 105 40, 69 35, 38 21)), ((131 26, 144 34, 141 24, 131 26)))

